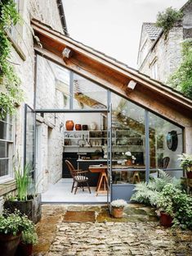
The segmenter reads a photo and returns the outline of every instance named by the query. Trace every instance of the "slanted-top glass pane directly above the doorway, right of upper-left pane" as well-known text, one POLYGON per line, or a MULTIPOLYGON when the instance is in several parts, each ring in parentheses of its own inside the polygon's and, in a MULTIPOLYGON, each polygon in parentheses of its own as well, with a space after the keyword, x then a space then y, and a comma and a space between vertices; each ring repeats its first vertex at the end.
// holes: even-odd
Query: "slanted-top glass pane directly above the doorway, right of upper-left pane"
POLYGON ((74 109, 107 108, 107 90, 74 74, 74 109))

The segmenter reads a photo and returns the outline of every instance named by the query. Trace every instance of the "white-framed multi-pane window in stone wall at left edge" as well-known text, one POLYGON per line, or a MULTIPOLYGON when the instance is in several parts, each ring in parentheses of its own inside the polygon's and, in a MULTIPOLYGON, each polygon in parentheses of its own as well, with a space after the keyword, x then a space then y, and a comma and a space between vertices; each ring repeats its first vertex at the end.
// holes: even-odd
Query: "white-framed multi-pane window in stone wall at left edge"
POLYGON ((13 125, 11 117, 0 121, 0 181, 11 176, 13 125))

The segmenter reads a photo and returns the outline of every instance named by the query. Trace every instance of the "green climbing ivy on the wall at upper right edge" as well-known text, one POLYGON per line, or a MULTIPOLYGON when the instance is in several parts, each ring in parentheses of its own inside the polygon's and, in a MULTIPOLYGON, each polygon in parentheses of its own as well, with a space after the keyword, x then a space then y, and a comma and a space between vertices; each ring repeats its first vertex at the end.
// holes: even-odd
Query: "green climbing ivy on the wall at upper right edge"
POLYGON ((181 65, 172 74, 168 83, 192 98, 192 39, 186 39, 182 43, 181 55, 181 65))

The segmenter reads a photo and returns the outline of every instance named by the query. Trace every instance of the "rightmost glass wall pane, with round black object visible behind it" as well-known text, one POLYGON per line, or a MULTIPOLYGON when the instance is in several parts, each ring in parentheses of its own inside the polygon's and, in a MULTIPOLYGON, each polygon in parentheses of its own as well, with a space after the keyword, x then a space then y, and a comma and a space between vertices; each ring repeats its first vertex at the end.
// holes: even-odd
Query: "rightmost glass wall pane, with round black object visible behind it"
MULTIPOLYGON (((183 152, 182 129, 153 113, 149 113, 149 119, 150 168, 180 169, 177 158, 178 154, 183 152)), ((172 176, 182 175, 182 171, 168 171, 168 173, 172 176)))

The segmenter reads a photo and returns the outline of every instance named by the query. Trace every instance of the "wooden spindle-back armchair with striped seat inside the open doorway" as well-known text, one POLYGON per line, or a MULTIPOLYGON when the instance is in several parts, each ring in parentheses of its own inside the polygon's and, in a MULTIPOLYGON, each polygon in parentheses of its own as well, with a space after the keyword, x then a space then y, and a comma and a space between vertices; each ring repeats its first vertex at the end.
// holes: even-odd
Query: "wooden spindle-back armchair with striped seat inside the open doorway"
POLYGON ((72 189, 71 189, 71 193, 73 193, 74 190, 74 194, 76 194, 78 187, 79 188, 83 188, 84 191, 84 185, 87 186, 89 193, 91 194, 91 190, 90 190, 90 186, 88 184, 88 178, 85 175, 88 171, 82 171, 82 170, 75 170, 74 166, 71 162, 69 162, 68 160, 65 160, 67 167, 69 168, 70 174, 74 179, 73 185, 72 185, 72 189), (75 182, 77 183, 76 186, 74 186, 75 182))

